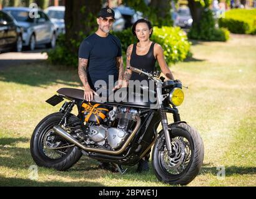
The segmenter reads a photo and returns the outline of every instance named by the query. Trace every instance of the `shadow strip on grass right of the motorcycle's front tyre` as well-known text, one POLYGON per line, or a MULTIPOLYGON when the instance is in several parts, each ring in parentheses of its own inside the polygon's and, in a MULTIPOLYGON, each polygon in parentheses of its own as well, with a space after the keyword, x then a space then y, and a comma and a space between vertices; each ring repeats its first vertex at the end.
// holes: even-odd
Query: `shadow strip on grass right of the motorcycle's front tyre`
MULTIPOLYGON (((200 175, 204 175, 204 174, 217 175, 217 173, 220 172, 220 169, 217 169, 217 167, 202 167, 202 169, 200 170, 200 175)), ((225 167, 226 177, 229 177, 232 175, 254 175, 254 174, 256 174, 256 167, 237 167, 237 166, 225 167)))

